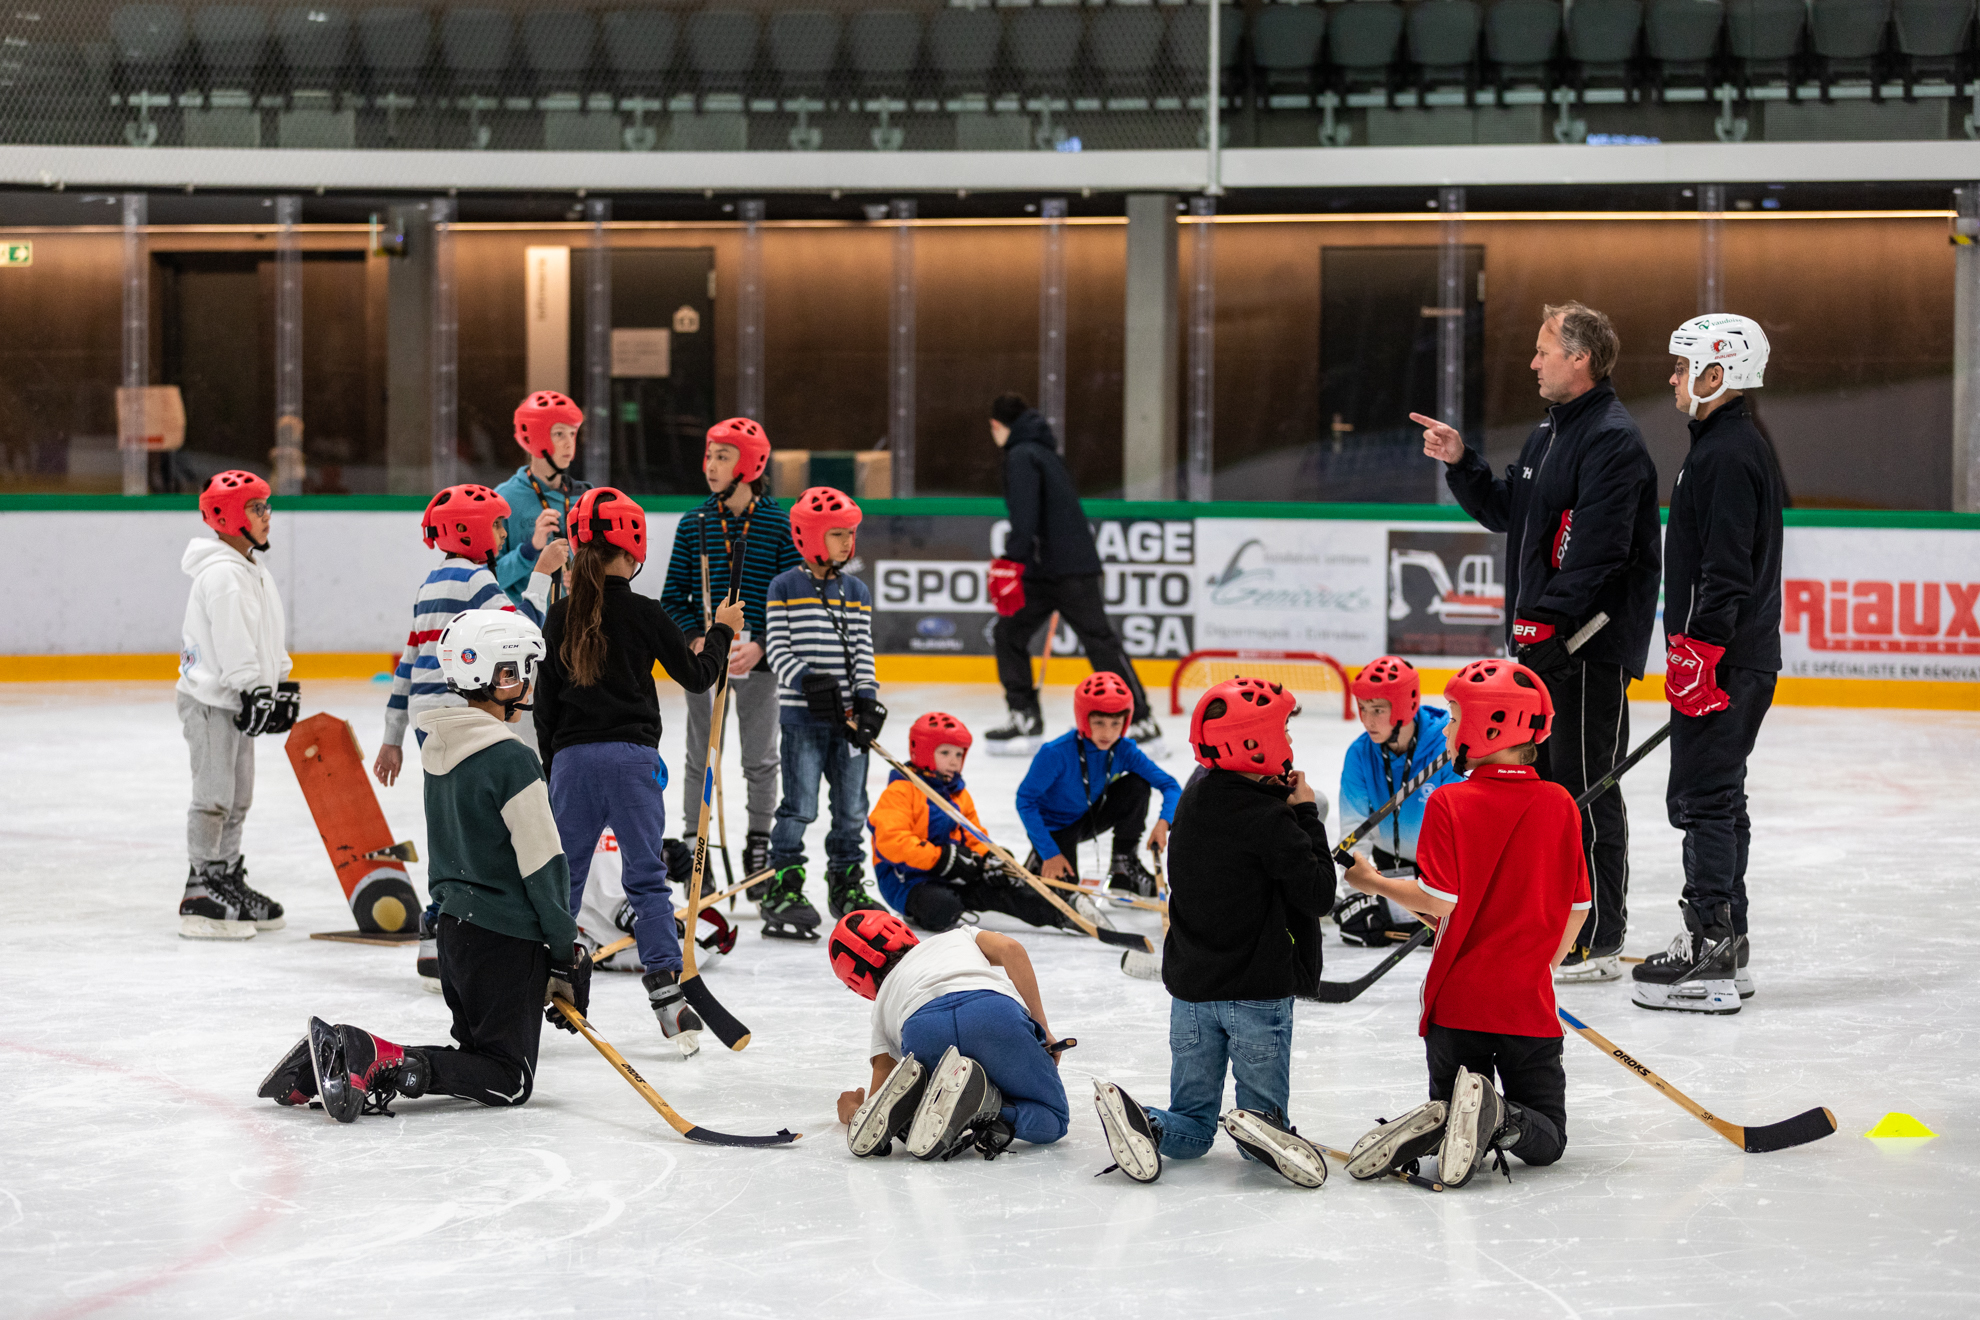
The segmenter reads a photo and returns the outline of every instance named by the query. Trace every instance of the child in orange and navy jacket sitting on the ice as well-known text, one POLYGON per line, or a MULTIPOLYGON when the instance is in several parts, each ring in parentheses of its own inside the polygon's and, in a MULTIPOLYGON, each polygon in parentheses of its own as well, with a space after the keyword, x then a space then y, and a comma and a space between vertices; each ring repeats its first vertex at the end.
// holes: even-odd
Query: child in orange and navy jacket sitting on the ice
MULTIPOLYGON (((970 730, 952 714, 931 710, 907 730, 907 760, 978 829, 976 803, 962 786, 970 730)), ((990 851, 966 835, 907 782, 889 772, 867 815, 873 879, 881 898, 923 930, 948 930, 964 912, 1008 912, 1034 926, 1061 926, 1059 910, 1024 881, 1008 877, 990 851)))

